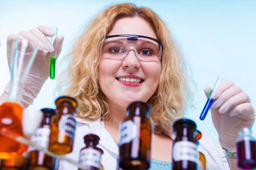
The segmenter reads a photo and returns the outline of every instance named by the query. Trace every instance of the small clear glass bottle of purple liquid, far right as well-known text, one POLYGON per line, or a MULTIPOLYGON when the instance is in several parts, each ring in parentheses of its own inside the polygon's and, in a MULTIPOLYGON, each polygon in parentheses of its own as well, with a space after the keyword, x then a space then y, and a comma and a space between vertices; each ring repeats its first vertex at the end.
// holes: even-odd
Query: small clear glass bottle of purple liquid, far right
POLYGON ((242 128, 238 132, 237 144, 237 163, 242 169, 256 168, 256 141, 252 137, 250 128, 242 128))

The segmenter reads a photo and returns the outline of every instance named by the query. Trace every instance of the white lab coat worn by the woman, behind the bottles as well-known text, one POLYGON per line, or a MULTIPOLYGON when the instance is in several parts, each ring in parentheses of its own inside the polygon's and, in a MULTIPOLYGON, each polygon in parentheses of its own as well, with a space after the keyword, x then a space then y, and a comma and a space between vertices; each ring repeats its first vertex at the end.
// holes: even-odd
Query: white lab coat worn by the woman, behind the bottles
MULTIPOLYGON (((79 160, 80 150, 85 147, 84 136, 87 134, 95 134, 100 137, 98 148, 104 151, 101 157, 101 164, 105 170, 116 170, 117 159, 119 156, 118 147, 111 137, 109 132, 105 129, 104 122, 87 121, 80 118, 76 118, 77 125, 75 131, 75 139, 73 145, 73 151, 66 155, 66 157, 79 160)), ((226 170, 229 169, 227 159, 223 153, 223 150, 218 143, 213 140, 207 133, 202 132, 202 138, 199 140, 198 151, 203 153, 207 160, 207 169, 209 170, 226 170)), ((70 163, 60 161, 60 170, 75 170, 77 167, 70 163)))

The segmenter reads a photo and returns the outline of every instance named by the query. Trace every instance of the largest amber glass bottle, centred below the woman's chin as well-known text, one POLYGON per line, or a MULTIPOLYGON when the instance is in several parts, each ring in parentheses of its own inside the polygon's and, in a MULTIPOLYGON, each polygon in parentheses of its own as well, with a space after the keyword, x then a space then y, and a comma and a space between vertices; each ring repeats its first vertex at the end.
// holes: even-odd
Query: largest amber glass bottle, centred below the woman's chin
POLYGON ((148 169, 151 159, 152 125, 147 118, 150 106, 134 102, 127 107, 127 117, 119 126, 119 167, 148 169))

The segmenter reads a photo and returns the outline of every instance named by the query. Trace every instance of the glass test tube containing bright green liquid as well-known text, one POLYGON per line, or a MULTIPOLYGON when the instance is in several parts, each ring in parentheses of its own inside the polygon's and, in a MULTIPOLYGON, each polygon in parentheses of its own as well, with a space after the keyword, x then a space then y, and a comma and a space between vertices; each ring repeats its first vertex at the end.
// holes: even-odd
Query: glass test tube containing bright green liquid
POLYGON ((54 47, 54 52, 51 53, 50 57, 50 78, 54 79, 55 78, 55 63, 56 63, 56 47, 54 45, 54 41, 57 37, 57 27, 52 27, 54 31, 54 36, 52 36, 51 43, 54 47))

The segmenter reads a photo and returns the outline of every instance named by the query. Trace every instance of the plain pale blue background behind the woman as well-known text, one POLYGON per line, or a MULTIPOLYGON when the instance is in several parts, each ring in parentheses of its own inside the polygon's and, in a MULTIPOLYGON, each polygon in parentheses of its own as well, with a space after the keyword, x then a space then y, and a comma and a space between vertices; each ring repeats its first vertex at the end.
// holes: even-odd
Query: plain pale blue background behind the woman
MULTIPOLYGON (((127 1, 111 3, 115 2, 127 1)), ((195 109, 189 110, 187 117, 196 121, 199 130, 208 132, 218 141, 210 113, 204 121, 199 120, 206 102, 203 87, 212 87, 218 75, 241 87, 256 108, 256 1, 129 2, 154 10, 166 22, 180 45, 198 87, 195 92, 195 109)), ((65 35, 61 59, 70 50, 72 40, 79 34, 84 23, 111 3, 100 0, 0 0, 0 91, 4 90, 10 80, 6 60, 6 39, 9 34, 29 31, 38 25, 58 27, 58 35, 65 35)), ((61 67, 59 62, 57 69, 61 67)), ((48 79, 32 107, 54 108, 55 85, 56 79, 48 79)), ((253 126, 253 135, 256 137, 256 125, 253 126)))

